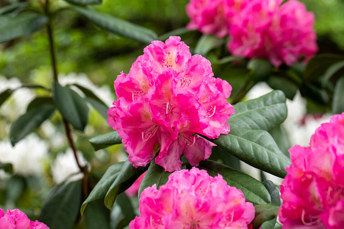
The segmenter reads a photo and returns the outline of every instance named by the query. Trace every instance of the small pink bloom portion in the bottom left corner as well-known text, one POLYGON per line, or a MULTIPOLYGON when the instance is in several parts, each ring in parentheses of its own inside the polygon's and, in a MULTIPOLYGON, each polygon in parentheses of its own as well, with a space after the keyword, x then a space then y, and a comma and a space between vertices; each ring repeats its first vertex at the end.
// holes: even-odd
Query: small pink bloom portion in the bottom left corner
POLYGON ((0 229, 49 229, 44 223, 30 221, 19 209, 4 211, 0 208, 0 229))

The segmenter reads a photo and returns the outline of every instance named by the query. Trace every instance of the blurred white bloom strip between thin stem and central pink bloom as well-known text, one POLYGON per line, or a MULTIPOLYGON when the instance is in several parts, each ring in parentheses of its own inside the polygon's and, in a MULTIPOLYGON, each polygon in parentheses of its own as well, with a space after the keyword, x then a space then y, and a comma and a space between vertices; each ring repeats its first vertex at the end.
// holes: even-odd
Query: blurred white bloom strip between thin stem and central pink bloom
POLYGON ((91 80, 87 78, 86 74, 80 73, 69 73, 68 75, 60 74, 58 81, 61 85, 65 86, 67 84, 79 84, 87 89, 93 91, 93 93, 102 100, 107 106, 111 106, 112 102, 115 100, 115 95, 112 93, 108 85, 103 85, 98 87, 92 83, 91 80))

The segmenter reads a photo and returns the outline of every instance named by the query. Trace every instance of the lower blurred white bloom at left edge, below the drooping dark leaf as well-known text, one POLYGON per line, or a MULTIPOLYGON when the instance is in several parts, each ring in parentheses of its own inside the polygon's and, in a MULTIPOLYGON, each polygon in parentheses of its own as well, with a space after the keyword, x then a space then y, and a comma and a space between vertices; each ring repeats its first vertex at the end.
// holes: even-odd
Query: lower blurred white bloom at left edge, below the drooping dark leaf
POLYGON ((11 163, 14 173, 41 175, 47 159, 48 144, 32 133, 12 147, 9 140, 0 142, 0 162, 11 163))

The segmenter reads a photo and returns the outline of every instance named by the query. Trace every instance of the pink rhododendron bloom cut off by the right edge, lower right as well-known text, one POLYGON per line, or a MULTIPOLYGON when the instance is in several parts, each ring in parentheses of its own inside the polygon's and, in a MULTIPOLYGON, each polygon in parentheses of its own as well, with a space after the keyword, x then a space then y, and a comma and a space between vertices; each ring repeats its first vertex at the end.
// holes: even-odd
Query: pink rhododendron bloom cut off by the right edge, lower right
POLYGON ((343 228, 344 112, 321 124, 309 147, 289 151, 291 166, 281 185, 283 228, 343 228))

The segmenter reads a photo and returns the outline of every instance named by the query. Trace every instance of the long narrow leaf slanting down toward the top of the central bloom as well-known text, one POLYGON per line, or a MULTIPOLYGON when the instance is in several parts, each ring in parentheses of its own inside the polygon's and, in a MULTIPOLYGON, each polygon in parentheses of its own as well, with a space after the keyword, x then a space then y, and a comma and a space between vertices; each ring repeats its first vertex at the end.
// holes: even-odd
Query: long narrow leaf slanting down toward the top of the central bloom
POLYGON ((120 18, 116 18, 110 14, 98 13, 96 11, 80 7, 71 7, 71 9, 79 12, 88 20, 112 33, 144 43, 150 43, 153 40, 158 39, 158 35, 154 31, 120 18))

